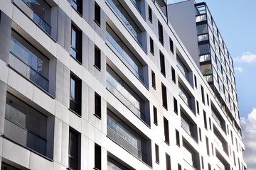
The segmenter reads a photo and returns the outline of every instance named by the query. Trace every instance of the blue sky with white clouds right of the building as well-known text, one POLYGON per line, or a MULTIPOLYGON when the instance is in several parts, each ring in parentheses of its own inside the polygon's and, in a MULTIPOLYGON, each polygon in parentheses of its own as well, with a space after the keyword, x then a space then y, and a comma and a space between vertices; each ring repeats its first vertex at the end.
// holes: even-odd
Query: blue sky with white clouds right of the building
POLYGON ((256 0, 196 0, 201 1, 208 5, 233 57, 243 155, 247 169, 256 170, 256 0))

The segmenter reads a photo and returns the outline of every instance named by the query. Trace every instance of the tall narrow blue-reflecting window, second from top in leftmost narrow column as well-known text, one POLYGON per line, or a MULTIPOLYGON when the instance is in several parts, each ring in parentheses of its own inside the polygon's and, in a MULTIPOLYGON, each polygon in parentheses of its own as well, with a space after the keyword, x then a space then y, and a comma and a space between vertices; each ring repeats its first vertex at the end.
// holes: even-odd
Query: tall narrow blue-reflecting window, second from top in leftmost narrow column
POLYGON ((82 32, 75 26, 71 26, 71 49, 70 55, 82 62, 82 32))

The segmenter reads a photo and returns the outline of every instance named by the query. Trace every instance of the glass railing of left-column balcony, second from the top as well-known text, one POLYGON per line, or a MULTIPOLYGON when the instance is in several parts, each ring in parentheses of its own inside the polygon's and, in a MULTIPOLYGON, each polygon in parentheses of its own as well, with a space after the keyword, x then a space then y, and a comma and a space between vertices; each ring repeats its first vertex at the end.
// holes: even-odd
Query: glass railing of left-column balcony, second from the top
POLYGON ((41 74, 38 74, 38 72, 33 69, 33 67, 20 60, 12 52, 10 52, 9 55, 9 64, 23 77, 26 77, 27 79, 33 81, 33 83, 40 86, 43 90, 48 91, 48 79, 46 79, 46 77, 43 77, 41 74))

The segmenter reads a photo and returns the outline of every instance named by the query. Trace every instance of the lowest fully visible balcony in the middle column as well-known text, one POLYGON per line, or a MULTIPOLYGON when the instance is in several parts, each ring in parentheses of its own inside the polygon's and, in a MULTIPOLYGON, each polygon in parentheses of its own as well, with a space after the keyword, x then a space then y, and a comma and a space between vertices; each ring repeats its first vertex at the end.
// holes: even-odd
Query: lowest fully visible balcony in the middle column
POLYGON ((110 137, 111 140, 133 154, 134 157, 149 164, 147 158, 147 152, 149 151, 146 150, 148 144, 144 137, 135 132, 110 110, 107 110, 107 137, 110 137))

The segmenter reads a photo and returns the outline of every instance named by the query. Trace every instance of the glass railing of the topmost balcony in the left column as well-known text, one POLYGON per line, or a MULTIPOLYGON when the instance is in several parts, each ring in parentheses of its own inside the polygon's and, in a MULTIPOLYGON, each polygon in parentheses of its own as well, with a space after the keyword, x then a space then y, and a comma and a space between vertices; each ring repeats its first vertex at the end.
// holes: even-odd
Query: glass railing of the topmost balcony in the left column
POLYGON ((13 3, 23 11, 29 18, 31 18, 38 26, 40 26, 43 30, 46 31, 50 35, 51 28, 46 21, 43 20, 37 13, 33 11, 33 9, 26 4, 23 0, 12 0, 13 3))

